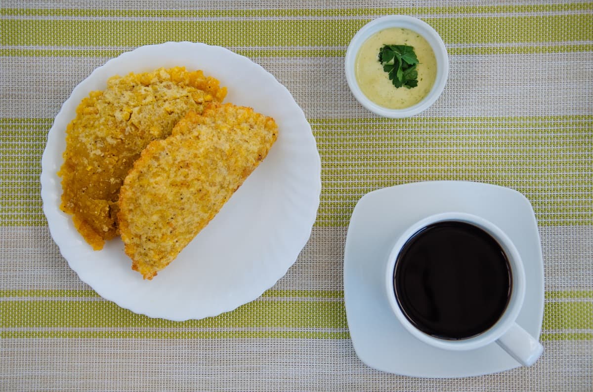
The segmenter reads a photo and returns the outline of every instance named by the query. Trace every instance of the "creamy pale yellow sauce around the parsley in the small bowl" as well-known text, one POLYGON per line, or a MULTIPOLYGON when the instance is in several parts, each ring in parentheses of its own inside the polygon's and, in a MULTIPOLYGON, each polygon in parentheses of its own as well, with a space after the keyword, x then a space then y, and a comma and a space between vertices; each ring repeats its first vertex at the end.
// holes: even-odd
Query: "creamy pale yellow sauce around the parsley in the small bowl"
POLYGON ((403 109, 422 101, 432 89, 436 79, 436 58, 424 37, 407 28, 393 27, 369 37, 358 51, 355 62, 356 82, 367 98, 385 108, 403 109), (378 60, 383 45, 409 45, 414 47, 419 64, 418 85, 396 88, 378 60))

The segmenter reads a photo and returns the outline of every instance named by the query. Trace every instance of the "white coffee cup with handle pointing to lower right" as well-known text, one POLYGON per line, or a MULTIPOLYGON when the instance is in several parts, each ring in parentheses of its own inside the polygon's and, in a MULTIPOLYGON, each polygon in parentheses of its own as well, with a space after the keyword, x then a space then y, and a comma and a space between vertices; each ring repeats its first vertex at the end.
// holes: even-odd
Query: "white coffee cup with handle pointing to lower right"
POLYGON ((543 346, 525 331, 516 322, 519 311, 523 306, 525 297, 525 271, 521 261, 521 255, 511 239, 499 229, 498 226, 490 221, 487 221, 479 216, 474 216, 466 213, 441 213, 426 217, 410 226, 397 239, 393 246, 390 255, 387 259, 387 267, 385 269, 385 291, 391 310, 396 315, 401 324, 412 333, 417 339, 422 340, 431 346, 452 351, 463 351, 477 349, 492 342, 498 343, 509 355, 515 358, 520 364, 530 366, 537 361, 543 352, 543 346), (397 298, 396 290, 394 288, 394 271, 396 267, 397 257, 406 244, 406 242, 419 230, 431 224, 443 221, 459 221, 472 224, 479 227, 486 233, 490 234, 493 239, 498 242, 502 250, 505 252, 508 259, 511 276, 512 288, 506 309, 498 321, 489 329, 467 339, 449 340, 436 338, 428 335, 422 330, 417 329, 412 324, 401 310, 397 298))

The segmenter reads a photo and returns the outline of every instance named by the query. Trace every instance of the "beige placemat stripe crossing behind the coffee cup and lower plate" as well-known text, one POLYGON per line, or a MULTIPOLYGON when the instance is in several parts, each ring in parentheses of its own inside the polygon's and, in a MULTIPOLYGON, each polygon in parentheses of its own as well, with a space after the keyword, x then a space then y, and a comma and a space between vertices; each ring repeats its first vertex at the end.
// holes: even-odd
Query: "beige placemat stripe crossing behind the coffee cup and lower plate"
MULTIPOLYGON (((307 246, 277 290, 343 290, 345 227, 314 227, 307 246)), ((593 226, 540 229, 547 291, 591 290, 593 226)), ((0 227, 3 290, 85 290, 46 227, 0 227)))

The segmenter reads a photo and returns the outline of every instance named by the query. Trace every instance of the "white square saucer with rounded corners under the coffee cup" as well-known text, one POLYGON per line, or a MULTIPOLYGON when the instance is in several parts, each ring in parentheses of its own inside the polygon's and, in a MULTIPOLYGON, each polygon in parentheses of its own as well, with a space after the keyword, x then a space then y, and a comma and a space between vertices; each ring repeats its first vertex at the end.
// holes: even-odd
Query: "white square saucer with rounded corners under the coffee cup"
POLYGON ((446 351, 416 339, 391 312, 384 295, 387 257, 408 226, 432 214, 474 214, 512 240, 525 268, 526 293, 517 323, 539 339, 544 312, 540 234, 527 198, 513 189, 466 181, 429 181, 369 192, 358 201, 346 237, 344 301, 356 354, 369 367, 413 377, 454 378, 519 367, 495 342, 446 351))

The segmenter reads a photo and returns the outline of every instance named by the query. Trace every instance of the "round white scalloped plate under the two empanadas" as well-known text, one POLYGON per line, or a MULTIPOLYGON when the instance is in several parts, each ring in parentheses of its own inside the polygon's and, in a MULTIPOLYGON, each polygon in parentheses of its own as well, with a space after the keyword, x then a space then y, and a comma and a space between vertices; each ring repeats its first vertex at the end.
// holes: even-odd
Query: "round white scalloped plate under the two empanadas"
POLYGON ((311 235, 321 192, 321 162, 311 127, 290 92, 247 57, 201 43, 139 47, 95 69, 63 104, 42 159, 43 211, 53 239, 82 281, 101 297, 149 317, 202 319, 259 297, 295 262, 311 235), (82 98, 107 79, 160 67, 202 69, 227 86, 225 102, 275 118, 277 142, 215 219, 152 281, 130 268, 123 243, 94 251, 59 209, 66 125, 82 98))

